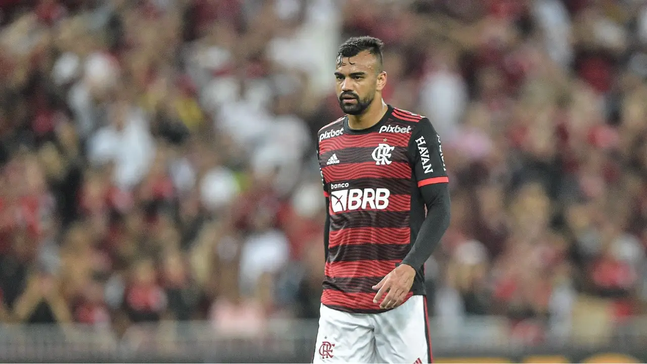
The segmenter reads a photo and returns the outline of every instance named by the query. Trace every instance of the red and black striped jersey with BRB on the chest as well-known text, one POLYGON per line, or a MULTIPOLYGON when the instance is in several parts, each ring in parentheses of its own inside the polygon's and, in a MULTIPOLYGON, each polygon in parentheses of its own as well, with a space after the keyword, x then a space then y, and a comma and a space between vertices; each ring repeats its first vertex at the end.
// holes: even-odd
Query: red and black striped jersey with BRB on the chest
MULTIPOLYGON (((425 218, 420 188, 446 183, 440 138, 429 119, 388 107, 365 130, 347 117, 318 132, 318 160, 328 218, 322 304, 378 313, 372 287, 400 264, 425 218)), ((407 296, 424 294, 417 270, 407 296)))

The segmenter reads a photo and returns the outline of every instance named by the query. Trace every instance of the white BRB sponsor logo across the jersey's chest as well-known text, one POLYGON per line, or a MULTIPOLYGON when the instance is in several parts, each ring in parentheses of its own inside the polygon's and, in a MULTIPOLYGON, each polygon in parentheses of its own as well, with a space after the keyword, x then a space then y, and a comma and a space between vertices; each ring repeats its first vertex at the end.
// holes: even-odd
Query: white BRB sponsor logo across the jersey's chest
MULTIPOLYGON (((334 188, 334 185, 333 185, 334 188)), ((384 210, 389 206, 391 191, 387 188, 351 188, 333 191, 330 194, 333 212, 353 211, 371 208, 384 210)))

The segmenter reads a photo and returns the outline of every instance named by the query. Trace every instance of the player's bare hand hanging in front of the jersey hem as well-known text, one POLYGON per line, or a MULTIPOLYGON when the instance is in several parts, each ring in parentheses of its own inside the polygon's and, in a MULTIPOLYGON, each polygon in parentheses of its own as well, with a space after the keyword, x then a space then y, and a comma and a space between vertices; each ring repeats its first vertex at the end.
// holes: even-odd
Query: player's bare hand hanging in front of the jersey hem
POLYGON ((380 304, 380 308, 388 309, 400 306, 404 302, 404 298, 411 290, 411 284, 415 278, 415 269, 406 264, 400 264, 380 280, 378 284, 373 286, 373 290, 377 291, 377 295, 373 299, 373 303, 380 301, 384 293, 388 291, 384 301, 380 304))

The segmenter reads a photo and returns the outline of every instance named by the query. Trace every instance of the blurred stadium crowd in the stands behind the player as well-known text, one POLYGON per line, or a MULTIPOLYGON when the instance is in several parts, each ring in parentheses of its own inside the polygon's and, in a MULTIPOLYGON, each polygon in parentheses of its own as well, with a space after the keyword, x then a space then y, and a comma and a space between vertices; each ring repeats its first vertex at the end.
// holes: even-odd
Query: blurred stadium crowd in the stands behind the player
POLYGON ((645 1, 0 0, 0 27, 3 361, 309 361, 314 135, 366 34, 443 139, 437 360, 647 361, 645 1))

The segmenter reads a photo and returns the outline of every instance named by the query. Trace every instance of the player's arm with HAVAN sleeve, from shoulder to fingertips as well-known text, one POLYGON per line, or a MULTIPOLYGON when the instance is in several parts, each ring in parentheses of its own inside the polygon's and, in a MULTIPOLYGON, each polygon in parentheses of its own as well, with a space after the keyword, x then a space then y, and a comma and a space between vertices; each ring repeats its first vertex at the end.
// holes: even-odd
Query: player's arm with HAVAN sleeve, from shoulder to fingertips
POLYGON ((381 302, 380 308, 393 308, 402 304, 404 297, 411 290, 417 269, 432 255, 450 223, 449 178, 444 165, 440 137, 430 120, 424 118, 419 123, 411 135, 408 150, 413 176, 424 199, 427 213, 408 255, 398 267, 373 287, 379 290, 373 300, 376 303, 386 291, 389 292, 381 302))

